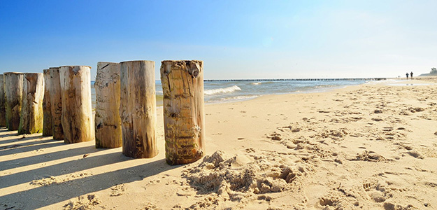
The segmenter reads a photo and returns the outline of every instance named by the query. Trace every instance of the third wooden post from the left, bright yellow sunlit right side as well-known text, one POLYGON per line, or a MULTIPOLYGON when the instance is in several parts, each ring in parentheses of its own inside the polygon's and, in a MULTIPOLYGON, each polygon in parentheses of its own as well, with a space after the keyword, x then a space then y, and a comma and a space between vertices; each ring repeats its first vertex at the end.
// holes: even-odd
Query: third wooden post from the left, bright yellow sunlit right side
POLYGON ((18 134, 43 132, 43 73, 24 73, 20 126, 18 134))

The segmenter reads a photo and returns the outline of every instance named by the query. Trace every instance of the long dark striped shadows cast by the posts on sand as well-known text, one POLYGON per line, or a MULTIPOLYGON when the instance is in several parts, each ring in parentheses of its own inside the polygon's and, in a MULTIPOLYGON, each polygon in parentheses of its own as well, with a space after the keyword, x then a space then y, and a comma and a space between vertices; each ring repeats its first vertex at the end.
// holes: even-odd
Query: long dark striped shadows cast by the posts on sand
MULTIPOLYGON (((4 132, 8 131, 1 130, 0 136, 8 135, 2 134, 4 132)), ((15 140, 21 141, 22 136, 15 136, 17 137, 15 140)), ((42 137, 36 136, 26 137, 24 139, 31 140, 40 138, 42 137)), ((44 138, 47 137, 43 137, 42 139, 44 138)), ((13 160, 6 160, 3 162, 0 158, 0 191, 5 190, 4 188, 17 186, 20 184, 29 183, 30 185, 31 181, 48 178, 50 176, 74 174, 75 172, 80 172, 84 170, 86 171, 87 169, 92 169, 95 167, 102 167, 105 165, 111 165, 120 162, 138 161, 122 155, 122 153, 120 152, 120 148, 96 149, 94 145, 89 146, 89 144, 86 146, 80 146, 80 144, 76 144, 77 147, 71 148, 71 146, 64 144, 63 141, 54 141, 52 139, 50 139, 50 141, 45 139, 41 141, 26 142, 22 144, 22 146, 16 146, 0 150, 1 157, 4 155, 24 153, 27 151, 34 151, 38 149, 58 147, 56 148, 57 151, 52 153, 41 152, 41 154, 38 155, 17 158, 13 160), (53 141, 52 144, 47 144, 50 141, 53 141), (114 151, 111 152, 108 150, 114 151), (108 151, 108 153, 103 153, 101 155, 96 154, 96 152, 99 151, 108 151), (84 158, 83 154, 87 154, 88 156, 84 158), (45 162, 59 160, 62 158, 69 158, 73 156, 78 157, 76 160, 70 160, 55 165, 45 166, 45 162), (14 169, 17 167, 35 164, 41 164, 41 167, 13 174, 2 173, 2 171, 7 169, 14 169)), ((0 139, 0 144, 1 143, 2 141, 0 139)), ((113 186, 117 186, 119 184, 141 181, 148 176, 154 176, 155 174, 159 174, 180 167, 180 165, 167 165, 164 159, 142 159, 139 161, 143 161, 144 164, 124 169, 117 169, 115 171, 106 172, 103 174, 96 174, 84 177, 79 176, 80 178, 76 177, 72 180, 66 179, 62 183, 52 183, 48 186, 36 186, 35 188, 27 190, 17 190, 17 192, 3 191, 2 194, 6 195, 0 197, 0 209, 43 208, 51 204, 56 204, 65 200, 69 200, 73 197, 78 197, 80 195, 86 195, 87 193, 104 190, 113 186)))

